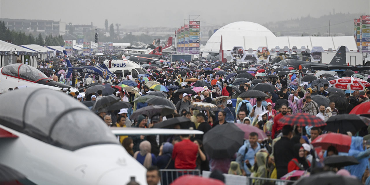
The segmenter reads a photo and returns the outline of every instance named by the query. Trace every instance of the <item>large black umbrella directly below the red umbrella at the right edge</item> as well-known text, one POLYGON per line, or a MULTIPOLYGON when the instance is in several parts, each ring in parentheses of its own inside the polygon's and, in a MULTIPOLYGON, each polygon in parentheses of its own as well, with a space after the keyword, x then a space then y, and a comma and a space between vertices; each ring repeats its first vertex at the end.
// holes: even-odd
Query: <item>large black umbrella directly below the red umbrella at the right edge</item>
POLYGON ((326 124, 324 130, 346 134, 347 131, 356 133, 361 128, 366 127, 366 124, 369 124, 369 120, 356 114, 339 114, 327 119, 326 124))

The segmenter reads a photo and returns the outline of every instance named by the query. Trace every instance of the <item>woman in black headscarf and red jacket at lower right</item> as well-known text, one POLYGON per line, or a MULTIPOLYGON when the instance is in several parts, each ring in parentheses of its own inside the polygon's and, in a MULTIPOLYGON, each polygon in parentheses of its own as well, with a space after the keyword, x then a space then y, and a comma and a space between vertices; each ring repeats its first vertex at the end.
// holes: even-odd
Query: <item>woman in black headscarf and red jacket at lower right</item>
POLYGON ((294 145, 295 158, 288 163, 288 173, 293 170, 307 170, 311 163, 305 157, 305 149, 301 144, 294 145))

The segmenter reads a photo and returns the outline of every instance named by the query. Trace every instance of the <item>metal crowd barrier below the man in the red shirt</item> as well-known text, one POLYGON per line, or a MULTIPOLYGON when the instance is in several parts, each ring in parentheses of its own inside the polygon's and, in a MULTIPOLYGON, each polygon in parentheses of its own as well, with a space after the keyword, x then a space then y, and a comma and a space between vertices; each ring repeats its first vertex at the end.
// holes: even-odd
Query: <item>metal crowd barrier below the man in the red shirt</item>
POLYGON ((169 185, 182 175, 201 175, 199 169, 160 169, 161 185, 169 185))

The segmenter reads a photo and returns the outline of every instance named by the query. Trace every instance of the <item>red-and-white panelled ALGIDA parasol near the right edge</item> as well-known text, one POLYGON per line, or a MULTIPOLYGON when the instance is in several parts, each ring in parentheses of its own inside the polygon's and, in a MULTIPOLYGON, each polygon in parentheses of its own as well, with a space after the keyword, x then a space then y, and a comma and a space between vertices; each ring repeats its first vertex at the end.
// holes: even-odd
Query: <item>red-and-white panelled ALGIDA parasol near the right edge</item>
POLYGON ((369 82, 354 77, 343 77, 336 80, 331 80, 329 83, 333 84, 333 87, 343 90, 350 89, 364 91, 366 87, 370 87, 369 82))

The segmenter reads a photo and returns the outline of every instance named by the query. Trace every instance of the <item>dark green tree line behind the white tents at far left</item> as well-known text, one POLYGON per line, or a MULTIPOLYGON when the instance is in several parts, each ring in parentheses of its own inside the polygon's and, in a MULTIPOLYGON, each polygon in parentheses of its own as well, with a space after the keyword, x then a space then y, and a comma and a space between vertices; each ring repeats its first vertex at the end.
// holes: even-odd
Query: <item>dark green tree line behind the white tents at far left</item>
POLYGON ((45 39, 41 36, 41 33, 37 37, 34 37, 33 34, 22 33, 21 31, 17 32, 14 30, 9 30, 5 26, 4 21, 0 21, 0 40, 6 41, 10 40, 12 44, 15 45, 25 45, 25 44, 38 44, 40 46, 64 46, 63 36, 46 36, 45 39))

